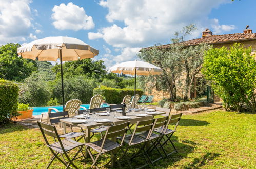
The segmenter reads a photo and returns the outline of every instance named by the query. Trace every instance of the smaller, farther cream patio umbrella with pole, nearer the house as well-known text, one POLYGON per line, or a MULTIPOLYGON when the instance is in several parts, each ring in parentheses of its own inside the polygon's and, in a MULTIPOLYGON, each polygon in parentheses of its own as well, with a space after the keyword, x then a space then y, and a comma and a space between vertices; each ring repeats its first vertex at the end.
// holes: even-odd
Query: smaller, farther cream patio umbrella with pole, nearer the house
MULTIPOLYGON (((126 61, 121 64, 117 64, 109 68, 109 71, 113 73, 123 73, 129 75, 135 75, 134 84, 134 101, 136 100, 136 75, 159 75, 162 73, 162 69, 144 61, 126 61)), ((135 103, 134 103, 135 108, 135 103)))

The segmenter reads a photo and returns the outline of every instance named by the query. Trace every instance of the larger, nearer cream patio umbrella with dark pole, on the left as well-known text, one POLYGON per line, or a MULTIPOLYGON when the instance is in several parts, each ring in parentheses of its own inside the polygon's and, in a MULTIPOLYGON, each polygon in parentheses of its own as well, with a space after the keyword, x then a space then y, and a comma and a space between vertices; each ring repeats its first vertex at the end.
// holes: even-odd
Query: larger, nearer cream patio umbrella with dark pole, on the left
POLYGON ((61 80, 62 80, 62 101, 64 109, 64 87, 63 87, 63 61, 82 60, 93 58, 99 54, 99 51, 84 43, 82 40, 73 37, 45 37, 37 39, 17 49, 18 55, 25 59, 38 61, 57 61, 61 62, 61 80))

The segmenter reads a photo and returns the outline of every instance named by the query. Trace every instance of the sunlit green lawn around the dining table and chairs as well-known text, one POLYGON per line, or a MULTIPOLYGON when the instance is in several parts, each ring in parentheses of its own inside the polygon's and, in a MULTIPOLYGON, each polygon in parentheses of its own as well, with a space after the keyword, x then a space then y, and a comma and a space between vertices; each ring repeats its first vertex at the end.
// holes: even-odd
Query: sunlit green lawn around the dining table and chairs
MULTIPOLYGON (((172 137, 179 153, 156 162, 153 168, 255 168, 255 123, 255 114, 249 113, 183 115, 172 137)), ((171 146, 167 150, 171 151, 171 146)), ((0 168, 46 167, 50 155, 38 129, 19 124, 0 129, 0 168)), ((79 168, 91 163, 90 159, 75 161, 79 168)), ((54 161, 52 167, 63 165, 54 161)))

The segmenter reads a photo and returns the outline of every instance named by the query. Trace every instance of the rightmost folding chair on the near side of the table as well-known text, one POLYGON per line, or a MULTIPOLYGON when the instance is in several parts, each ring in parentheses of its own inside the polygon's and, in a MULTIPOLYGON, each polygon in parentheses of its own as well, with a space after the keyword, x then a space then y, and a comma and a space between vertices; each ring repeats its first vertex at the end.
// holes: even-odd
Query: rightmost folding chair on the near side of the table
MULTIPOLYGON (((154 130, 154 132, 157 132, 159 134, 160 133, 163 134, 162 137, 159 139, 158 143, 155 145, 155 147, 157 145, 160 145, 163 148, 164 145, 166 145, 169 141, 171 143, 171 145, 173 146, 173 148, 174 148, 174 151, 172 151, 170 153, 167 153, 164 149, 162 149, 166 157, 168 157, 172 153, 175 153, 175 152, 178 153, 176 147, 174 146, 173 142, 171 141, 171 137, 172 137, 173 133, 176 132, 176 128, 177 128, 177 126, 180 122, 181 116, 182 116, 182 113, 171 115, 169 120, 167 121, 165 127, 161 127, 161 128, 158 128, 158 129, 154 130), (169 124, 175 124, 175 127, 174 127, 173 130, 168 128, 169 124)), ((150 150, 150 151, 152 151, 152 150, 150 150)))

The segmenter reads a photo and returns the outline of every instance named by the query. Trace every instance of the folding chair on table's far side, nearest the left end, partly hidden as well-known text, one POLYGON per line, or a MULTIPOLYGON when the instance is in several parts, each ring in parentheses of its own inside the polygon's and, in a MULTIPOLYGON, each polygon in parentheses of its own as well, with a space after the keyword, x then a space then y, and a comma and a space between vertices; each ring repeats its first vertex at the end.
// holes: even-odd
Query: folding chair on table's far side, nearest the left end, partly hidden
MULTIPOLYGON (((69 115, 68 115, 68 111, 65 111, 65 112, 57 112, 57 113, 49 113, 48 114, 49 116, 49 121, 50 121, 50 124, 56 124, 56 123, 59 123, 60 122, 60 119, 65 119, 65 118, 69 118, 69 115), (57 117, 57 118, 56 118, 57 117)), ((80 137, 78 138, 77 141, 81 140, 82 138, 85 139, 85 133, 82 133, 82 132, 73 132, 73 129, 72 129, 72 126, 71 124, 69 124, 70 126, 70 129, 71 129, 71 132, 69 133, 64 133, 62 135, 60 135, 60 137, 62 138, 76 138, 76 137, 80 137)), ((75 139, 76 140, 76 139, 75 139)))

